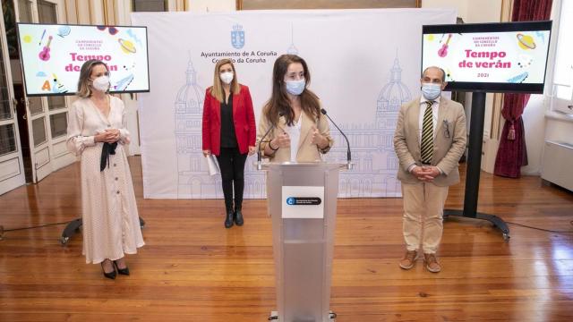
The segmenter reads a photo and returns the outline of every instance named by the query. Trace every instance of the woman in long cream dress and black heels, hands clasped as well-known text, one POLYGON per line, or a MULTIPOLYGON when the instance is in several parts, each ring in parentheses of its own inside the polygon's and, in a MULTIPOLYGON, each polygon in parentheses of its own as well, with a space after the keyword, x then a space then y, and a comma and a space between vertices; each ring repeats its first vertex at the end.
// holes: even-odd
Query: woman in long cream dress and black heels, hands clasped
POLYGON ((81 156, 81 208, 86 263, 99 264, 107 278, 129 275, 125 254, 143 246, 132 175, 124 144, 124 103, 107 94, 107 65, 90 60, 81 66, 78 99, 68 118, 67 146, 81 156))

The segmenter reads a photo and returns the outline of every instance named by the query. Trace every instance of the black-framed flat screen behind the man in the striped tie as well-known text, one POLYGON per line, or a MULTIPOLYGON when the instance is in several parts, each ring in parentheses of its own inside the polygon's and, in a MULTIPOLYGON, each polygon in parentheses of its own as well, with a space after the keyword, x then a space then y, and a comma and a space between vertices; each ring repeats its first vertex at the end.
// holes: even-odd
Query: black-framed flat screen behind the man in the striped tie
POLYGON ((552 21, 423 26, 422 71, 439 66, 446 90, 543 93, 552 21))

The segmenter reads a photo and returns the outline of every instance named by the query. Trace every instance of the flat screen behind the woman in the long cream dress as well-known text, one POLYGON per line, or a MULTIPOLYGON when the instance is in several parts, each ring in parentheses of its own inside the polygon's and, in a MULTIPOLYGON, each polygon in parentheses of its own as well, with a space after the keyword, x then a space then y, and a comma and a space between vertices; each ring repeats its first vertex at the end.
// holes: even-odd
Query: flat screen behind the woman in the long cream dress
POLYGON ((147 28, 18 23, 26 94, 73 95, 81 65, 107 64, 112 93, 150 91, 147 28))

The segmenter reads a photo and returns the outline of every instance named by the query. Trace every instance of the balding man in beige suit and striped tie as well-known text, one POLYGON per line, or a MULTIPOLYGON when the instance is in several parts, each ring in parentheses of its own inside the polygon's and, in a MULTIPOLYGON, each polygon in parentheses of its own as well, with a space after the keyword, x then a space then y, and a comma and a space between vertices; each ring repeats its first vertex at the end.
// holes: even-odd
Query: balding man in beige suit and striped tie
POLYGON ((448 187, 459 182, 458 161, 466 149, 466 114, 461 104, 441 96, 447 83, 439 67, 425 69, 420 82, 423 95, 400 107, 394 134, 406 241, 400 267, 414 267, 422 246, 425 267, 437 273, 443 208, 448 187))

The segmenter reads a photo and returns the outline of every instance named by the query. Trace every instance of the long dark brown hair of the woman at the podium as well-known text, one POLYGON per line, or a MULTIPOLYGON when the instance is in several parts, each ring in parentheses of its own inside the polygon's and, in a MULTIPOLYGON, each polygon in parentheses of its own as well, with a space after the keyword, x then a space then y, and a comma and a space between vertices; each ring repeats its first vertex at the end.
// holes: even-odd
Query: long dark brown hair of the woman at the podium
POLYGON ((288 65, 293 63, 300 63, 304 69, 304 86, 303 93, 301 93, 301 108, 303 111, 313 116, 314 119, 321 117, 321 103, 319 97, 312 93, 307 86, 311 82, 311 73, 308 71, 308 66, 303 58, 297 55, 280 55, 275 61, 272 70, 272 95, 263 107, 263 115, 267 117, 269 123, 276 125, 278 123, 278 115, 283 114, 286 119, 286 124, 292 126, 295 121, 295 112, 290 106, 290 100, 286 94, 285 88, 285 75, 288 70, 288 65))

